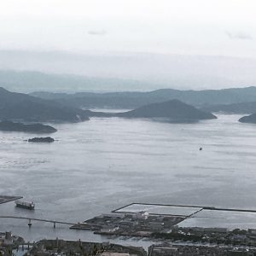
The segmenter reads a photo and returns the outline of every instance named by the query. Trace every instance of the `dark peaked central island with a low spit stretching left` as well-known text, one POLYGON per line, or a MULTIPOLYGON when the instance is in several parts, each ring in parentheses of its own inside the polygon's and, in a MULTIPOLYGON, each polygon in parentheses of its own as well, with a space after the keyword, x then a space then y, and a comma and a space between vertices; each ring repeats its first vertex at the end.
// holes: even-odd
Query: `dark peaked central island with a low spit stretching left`
POLYGON ((123 113, 102 113, 86 112, 89 116, 94 117, 122 117, 122 118, 148 118, 163 119, 170 122, 195 122, 202 119, 217 119, 212 113, 201 111, 193 106, 178 100, 159 102, 145 105, 123 113))

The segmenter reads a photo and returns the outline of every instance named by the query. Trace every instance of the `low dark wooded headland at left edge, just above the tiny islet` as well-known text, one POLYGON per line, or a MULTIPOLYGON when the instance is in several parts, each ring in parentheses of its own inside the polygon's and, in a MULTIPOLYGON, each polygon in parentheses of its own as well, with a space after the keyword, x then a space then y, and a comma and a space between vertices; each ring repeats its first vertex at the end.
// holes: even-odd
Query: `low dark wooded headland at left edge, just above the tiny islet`
POLYGON ((0 131, 23 131, 23 132, 38 132, 38 133, 53 133, 57 131, 54 127, 42 124, 22 124, 12 121, 0 122, 0 131))

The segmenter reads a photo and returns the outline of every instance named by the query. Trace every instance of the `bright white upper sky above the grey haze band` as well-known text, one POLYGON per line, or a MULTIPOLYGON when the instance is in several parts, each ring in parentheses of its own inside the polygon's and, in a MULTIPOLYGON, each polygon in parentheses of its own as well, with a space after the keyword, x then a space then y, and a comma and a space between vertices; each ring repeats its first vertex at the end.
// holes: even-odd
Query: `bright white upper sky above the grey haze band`
POLYGON ((255 0, 0 0, 0 49, 256 58, 255 0))

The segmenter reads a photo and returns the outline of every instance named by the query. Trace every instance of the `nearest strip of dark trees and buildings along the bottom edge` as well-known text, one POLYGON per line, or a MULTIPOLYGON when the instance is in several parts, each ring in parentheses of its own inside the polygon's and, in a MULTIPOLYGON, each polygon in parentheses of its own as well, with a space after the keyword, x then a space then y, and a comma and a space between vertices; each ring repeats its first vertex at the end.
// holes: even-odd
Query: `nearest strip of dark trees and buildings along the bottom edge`
POLYGON ((30 245, 21 237, 12 236, 11 233, 1 234, 0 255, 13 256, 18 255, 18 252, 27 256, 254 256, 256 247, 173 245, 164 242, 153 244, 147 250, 143 247, 123 246, 109 242, 65 241, 58 238, 41 240, 30 245))

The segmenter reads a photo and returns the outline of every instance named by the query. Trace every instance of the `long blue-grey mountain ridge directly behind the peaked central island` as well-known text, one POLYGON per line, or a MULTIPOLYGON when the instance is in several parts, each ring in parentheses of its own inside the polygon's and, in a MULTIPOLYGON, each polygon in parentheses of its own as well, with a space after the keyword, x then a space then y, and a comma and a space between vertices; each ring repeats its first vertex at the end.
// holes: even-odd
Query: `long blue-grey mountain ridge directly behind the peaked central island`
POLYGON ((54 100, 73 108, 139 108, 143 105, 177 99, 194 107, 208 105, 253 102, 256 87, 230 88, 222 90, 175 90, 160 89, 147 92, 125 91, 108 93, 79 92, 75 94, 54 94, 33 92, 32 96, 54 100))

